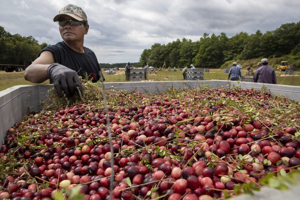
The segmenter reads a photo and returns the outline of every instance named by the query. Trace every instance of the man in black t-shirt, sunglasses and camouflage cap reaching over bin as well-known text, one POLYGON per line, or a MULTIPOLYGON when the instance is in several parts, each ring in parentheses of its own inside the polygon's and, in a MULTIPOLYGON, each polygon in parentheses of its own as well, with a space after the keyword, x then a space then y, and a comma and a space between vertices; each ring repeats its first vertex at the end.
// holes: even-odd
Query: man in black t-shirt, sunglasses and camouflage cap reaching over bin
POLYGON ((38 58, 26 68, 24 78, 32 83, 43 83, 50 79, 56 93, 63 97, 81 96, 82 84, 79 76, 97 82, 104 81, 95 53, 83 46, 84 35, 89 25, 85 12, 76 5, 67 5, 53 19, 58 22, 63 41, 45 47, 38 58))

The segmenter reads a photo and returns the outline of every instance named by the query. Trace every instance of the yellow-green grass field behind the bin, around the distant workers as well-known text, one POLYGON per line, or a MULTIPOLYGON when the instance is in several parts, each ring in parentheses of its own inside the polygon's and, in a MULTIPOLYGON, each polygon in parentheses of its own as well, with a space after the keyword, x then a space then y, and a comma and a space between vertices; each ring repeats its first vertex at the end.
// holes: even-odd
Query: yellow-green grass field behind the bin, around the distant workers
MULTIPOLYGON (((5 72, 0 71, 0 91, 10 88, 15 85, 32 85, 29 81, 24 79, 24 71, 21 72, 5 72)), ((105 73, 105 82, 125 82, 125 72, 121 68, 117 71, 117 74, 107 75, 105 73)), ((246 74, 246 69, 242 69, 242 74, 246 74)), ((300 71, 294 71, 294 76, 280 76, 285 74, 284 71, 276 71, 277 84, 281 85, 294 85, 300 86, 300 71)), ((176 81, 183 80, 182 71, 157 71, 157 74, 149 74, 149 81, 176 81)), ((210 69, 210 72, 204 72, 204 80, 226 80, 227 73, 223 72, 223 69, 210 69)), ((46 80, 41 84, 48 84, 49 80, 46 80)))

